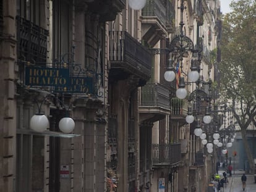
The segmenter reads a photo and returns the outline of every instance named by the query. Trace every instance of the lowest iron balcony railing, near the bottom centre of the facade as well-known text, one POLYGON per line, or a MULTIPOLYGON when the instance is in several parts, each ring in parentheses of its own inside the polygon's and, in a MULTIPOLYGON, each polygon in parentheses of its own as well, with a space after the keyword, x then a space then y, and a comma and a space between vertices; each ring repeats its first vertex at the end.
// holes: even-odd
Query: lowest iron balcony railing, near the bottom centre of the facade
POLYGON ((153 164, 174 164, 181 161, 181 144, 152 144, 153 164))

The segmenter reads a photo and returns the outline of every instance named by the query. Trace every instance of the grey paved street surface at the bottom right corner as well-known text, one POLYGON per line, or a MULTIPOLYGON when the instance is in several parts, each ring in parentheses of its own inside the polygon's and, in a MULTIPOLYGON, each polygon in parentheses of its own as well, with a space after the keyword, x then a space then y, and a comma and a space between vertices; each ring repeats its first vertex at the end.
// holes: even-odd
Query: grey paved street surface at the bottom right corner
MULTIPOLYGON (((219 174, 222 176, 223 171, 219 171, 219 174)), ((228 177, 229 183, 224 187, 223 192, 240 192, 242 191, 242 182, 241 177, 244 171, 235 170, 235 174, 232 177, 228 177)), ((245 191, 247 192, 256 192, 256 183, 254 183, 254 175, 246 175, 247 182, 245 191)))

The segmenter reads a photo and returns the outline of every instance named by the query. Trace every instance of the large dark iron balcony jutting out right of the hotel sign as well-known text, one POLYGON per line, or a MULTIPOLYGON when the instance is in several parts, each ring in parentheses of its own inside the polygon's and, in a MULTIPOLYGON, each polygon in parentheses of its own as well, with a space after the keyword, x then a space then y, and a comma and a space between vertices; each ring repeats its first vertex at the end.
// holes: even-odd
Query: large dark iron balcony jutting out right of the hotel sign
POLYGON ((151 52, 126 31, 109 31, 110 77, 120 80, 135 75, 139 85, 151 77, 151 52))

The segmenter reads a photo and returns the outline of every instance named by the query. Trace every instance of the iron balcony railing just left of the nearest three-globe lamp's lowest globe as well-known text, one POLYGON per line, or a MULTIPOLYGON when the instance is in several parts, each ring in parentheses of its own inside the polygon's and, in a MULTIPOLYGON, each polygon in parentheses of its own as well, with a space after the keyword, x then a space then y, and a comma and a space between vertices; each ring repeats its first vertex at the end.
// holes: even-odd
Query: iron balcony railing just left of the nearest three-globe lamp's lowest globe
POLYGON ((168 89, 158 83, 148 83, 143 86, 141 106, 155 106, 170 109, 168 89))

